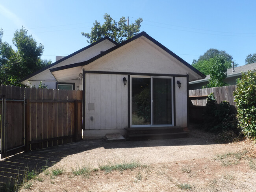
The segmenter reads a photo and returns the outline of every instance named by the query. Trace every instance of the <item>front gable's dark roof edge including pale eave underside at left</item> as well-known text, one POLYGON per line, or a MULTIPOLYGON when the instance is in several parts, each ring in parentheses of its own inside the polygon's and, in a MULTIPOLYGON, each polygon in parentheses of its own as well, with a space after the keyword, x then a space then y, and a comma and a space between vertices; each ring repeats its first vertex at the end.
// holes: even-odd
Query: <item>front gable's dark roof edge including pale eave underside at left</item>
POLYGON ((184 66, 186 66, 187 68, 189 68, 190 72, 193 72, 193 74, 191 74, 189 77, 191 79, 189 79, 190 81, 193 79, 202 79, 205 78, 204 74, 202 74, 200 71, 198 71, 196 68, 194 68, 193 66, 191 66, 189 63, 187 63, 186 61, 184 61, 182 58, 180 58, 178 55, 174 54, 171 50, 169 50, 168 48, 166 48, 165 46, 163 46, 161 43, 159 43, 158 41, 156 41, 155 39, 153 39, 152 37, 150 37, 147 33, 145 33, 144 31, 139 33, 138 35, 116 45, 113 46, 112 48, 109 48, 108 50, 106 50, 105 52, 102 52, 99 55, 96 55, 95 57, 81 62, 81 63, 74 63, 74 64, 70 64, 70 65, 65 65, 65 66, 59 66, 56 68, 52 68, 50 69, 50 72, 52 72, 52 74, 55 76, 55 78, 59 81, 59 80, 64 80, 65 78, 63 78, 63 74, 70 74, 70 77, 72 76, 72 73, 74 74, 74 76, 77 76, 77 71, 80 70, 82 68, 82 66, 88 65, 94 61, 96 61, 97 59, 100 59, 102 57, 104 57, 105 55, 108 55, 112 52, 114 52, 115 50, 124 47, 126 44, 135 41, 136 39, 139 39, 140 37, 143 38, 147 38, 151 43, 155 44, 158 49, 161 48, 161 50, 164 50, 165 52, 167 52, 169 55, 171 55, 172 57, 174 57, 175 59, 177 59, 180 63, 182 63, 184 66), (59 72, 62 71, 62 72, 59 72))

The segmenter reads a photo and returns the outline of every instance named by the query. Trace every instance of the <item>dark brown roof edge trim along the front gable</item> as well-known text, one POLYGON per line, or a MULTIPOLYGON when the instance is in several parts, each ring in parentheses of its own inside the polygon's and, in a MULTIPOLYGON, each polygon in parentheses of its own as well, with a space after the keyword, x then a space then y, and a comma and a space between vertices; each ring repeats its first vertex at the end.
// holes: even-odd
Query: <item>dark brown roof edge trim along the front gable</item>
POLYGON ((197 73, 201 78, 205 78, 206 76, 204 74, 202 74, 200 71, 198 71, 196 68, 194 68, 193 66, 191 66, 189 63, 187 63, 186 61, 184 61, 182 58, 180 58, 178 55, 174 54, 171 50, 169 50, 168 48, 166 48, 165 46, 163 46, 160 42, 156 41, 155 39, 153 39, 152 37, 150 37, 145 31, 142 31, 141 33, 139 33, 138 35, 135 35, 134 37, 106 50, 105 52, 102 52, 99 55, 96 55, 95 57, 84 61, 84 62, 80 62, 80 63, 74 63, 74 64, 70 64, 70 65, 65 65, 65 66, 60 66, 60 67, 56 67, 56 68, 52 68, 50 69, 50 72, 56 72, 59 70, 65 70, 65 69, 69 69, 69 68, 74 68, 74 67, 79 67, 79 66, 84 66, 84 65, 88 65, 89 63, 92 63, 93 61, 99 59, 100 57, 103 57, 106 54, 109 54, 110 52, 113 52, 114 50, 117 50, 118 48, 128 44, 131 41, 134 41, 135 39, 138 39, 139 37, 146 37, 148 40, 152 41, 154 44, 156 44, 157 46, 159 46, 161 49, 163 49, 165 52, 167 52, 168 54, 170 54, 171 56, 173 56, 175 59, 177 59, 178 61, 180 61, 182 64, 184 64, 185 66, 187 66, 188 68, 190 68, 191 70, 193 70, 195 73, 197 73))

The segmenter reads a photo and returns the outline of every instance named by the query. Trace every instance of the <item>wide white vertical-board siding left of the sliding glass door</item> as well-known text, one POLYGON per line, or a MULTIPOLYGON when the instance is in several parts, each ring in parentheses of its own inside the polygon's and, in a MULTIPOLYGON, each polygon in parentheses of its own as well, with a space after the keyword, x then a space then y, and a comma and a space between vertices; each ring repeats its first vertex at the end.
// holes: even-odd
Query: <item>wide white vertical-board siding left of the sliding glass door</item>
POLYGON ((128 127, 128 87, 124 87, 124 77, 128 79, 127 75, 85 74, 85 137, 124 133, 128 127), (89 110, 89 105, 94 109, 89 110))

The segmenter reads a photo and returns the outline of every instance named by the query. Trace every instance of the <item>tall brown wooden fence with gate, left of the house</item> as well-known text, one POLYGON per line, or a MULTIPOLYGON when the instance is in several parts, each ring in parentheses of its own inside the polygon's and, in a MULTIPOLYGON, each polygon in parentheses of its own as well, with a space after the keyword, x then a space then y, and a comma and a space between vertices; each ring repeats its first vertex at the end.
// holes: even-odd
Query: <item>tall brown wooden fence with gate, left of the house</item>
POLYGON ((82 139, 82 91, 0 86, 1 157, 82 139))

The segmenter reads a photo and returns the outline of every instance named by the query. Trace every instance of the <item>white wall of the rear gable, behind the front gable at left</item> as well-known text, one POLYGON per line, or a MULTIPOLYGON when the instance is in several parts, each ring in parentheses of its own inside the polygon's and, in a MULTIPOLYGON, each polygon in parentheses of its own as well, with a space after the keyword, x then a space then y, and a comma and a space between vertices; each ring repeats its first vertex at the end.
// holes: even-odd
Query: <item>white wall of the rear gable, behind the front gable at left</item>
MULTIPOLYGON (((56 86, 56 79, 54 78, 54 76, 52 75, 52 73, 50 72, 51 68, 56 68, 59 66, 64 66, 64 65, 70 65, 70 64, 74 64, 74 63, 80 63, 83 61, 87 61, 89 59, 91 59, 92 57, 95 57, 96 55, 100 54, 101 51, 106 51, 109 48, 115 46, 115 44, 113 44, 113 42, 110 42, 108 40, 104 40, 102 42, 99 42, 98 44, 95 44, 94 46, 91 46, 90 48, 70 57, 65 59, 64 57, 64 61, 46 69, 45 71, 36 74, 35 76, 31 77, 30 79, 27 79, 26 81, 23 81, 22 83, 25 85, 35 85, 35 87, 38 87, 38 84, 40 83, 40 81, 42 81, 43 83, 45 83, 45 85, 48 85, 48 89, 55 89, 56 86)), ((79 73, 77 74, 78 77, 79 73)), ((77 79, 69 79, 69 81, 65 81, 65 82, 72 82, 75 83, 75 81, 78 80, 77 79)), ((62 81, 59 81, 62 82, 62 81)))

